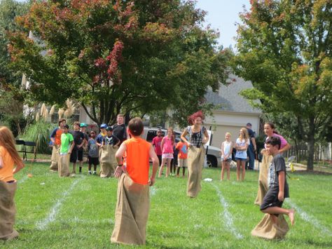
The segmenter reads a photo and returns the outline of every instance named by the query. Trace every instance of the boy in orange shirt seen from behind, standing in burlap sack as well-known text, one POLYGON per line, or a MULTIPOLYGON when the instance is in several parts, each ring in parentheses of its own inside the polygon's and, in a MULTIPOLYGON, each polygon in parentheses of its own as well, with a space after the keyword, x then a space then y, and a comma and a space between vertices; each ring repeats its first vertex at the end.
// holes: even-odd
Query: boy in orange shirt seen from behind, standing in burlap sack
POLYGON ((118 167, 114 175, 119 178, 118 199, 111 242, 145 245, 150 208, 149 186, 155 183, 159 162, 152 145, 140 137, 144 131, 141 119, 132 119, 128 127, 132 138, 125 140, 116 152, 118 167), (150 180, 149 159, 153 163, 150 180))

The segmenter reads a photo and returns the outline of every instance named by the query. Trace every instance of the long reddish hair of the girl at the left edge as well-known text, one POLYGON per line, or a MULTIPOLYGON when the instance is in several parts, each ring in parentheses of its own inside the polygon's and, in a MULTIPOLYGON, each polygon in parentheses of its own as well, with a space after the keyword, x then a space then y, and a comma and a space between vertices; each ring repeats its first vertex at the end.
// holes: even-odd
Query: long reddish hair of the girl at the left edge
POLYGON ((7 149, 7 152, 11 155, 16 165, 23 163, 16 150, 13 133, 6 126, 0 126, 0 146, 7 149))

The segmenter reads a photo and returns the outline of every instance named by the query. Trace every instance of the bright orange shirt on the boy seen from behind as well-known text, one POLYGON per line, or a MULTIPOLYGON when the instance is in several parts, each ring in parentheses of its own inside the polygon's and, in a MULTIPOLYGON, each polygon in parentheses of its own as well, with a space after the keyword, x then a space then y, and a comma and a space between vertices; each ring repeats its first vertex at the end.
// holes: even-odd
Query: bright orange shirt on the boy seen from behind
POLYGON ((125 140, 126 149, 126 167, 130 178, 139 184, 148 184, 149 170, 149 151, 151 144, 141 137, 133 137, 125 140))

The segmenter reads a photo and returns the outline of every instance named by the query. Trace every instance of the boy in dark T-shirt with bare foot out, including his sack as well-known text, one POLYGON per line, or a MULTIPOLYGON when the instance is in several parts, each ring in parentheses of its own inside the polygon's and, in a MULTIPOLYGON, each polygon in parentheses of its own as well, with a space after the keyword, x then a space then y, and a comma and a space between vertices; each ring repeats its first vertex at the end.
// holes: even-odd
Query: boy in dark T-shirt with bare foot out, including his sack
POLYGON ((271 137, 266 142, 266 149, 273 159, 269 167, 268 175, 268 193, 263 198, 261 212, 266 215, 263 220, 251 231, 253 236, 261 238, 284 238, 289 226, 284 220, 284 215, 288 215, 291 224, 294 223, 295 211, 282 208, 284 198, 289 197, 289 187, 286 182, 286 165, 284 158, 279 154, 281 141, 279 137, 271 137))

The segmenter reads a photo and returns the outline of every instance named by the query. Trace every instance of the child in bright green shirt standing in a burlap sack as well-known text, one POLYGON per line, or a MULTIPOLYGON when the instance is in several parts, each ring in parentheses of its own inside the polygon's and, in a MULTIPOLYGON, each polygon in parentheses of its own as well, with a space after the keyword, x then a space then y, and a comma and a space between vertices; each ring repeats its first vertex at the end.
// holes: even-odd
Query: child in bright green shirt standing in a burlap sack
POLYGON ((71 152, 75 147, 74 137, 69 133, 69 126, 66 124, 62 129, 61 134, 61 146, 60 146, 60 156, 58 158, 59 166, 59 176, 67 177, 69 176, 69 160, 71 152))

